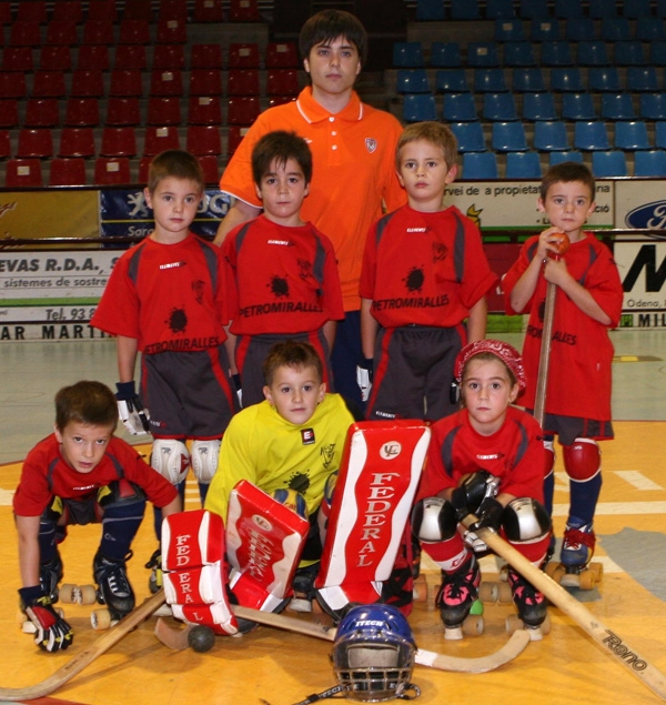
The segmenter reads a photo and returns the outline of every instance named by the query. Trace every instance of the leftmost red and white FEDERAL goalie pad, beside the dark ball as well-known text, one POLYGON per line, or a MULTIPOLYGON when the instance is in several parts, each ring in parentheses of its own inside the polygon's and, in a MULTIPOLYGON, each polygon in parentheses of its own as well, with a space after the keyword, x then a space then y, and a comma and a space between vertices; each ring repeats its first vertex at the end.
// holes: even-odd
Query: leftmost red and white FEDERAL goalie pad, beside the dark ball
POLYGON ((235 634, 226 597, 224 522, 206 510, 172 514, 162 522, 164 596, 173 616, 205 624, 216 634, 235 634))

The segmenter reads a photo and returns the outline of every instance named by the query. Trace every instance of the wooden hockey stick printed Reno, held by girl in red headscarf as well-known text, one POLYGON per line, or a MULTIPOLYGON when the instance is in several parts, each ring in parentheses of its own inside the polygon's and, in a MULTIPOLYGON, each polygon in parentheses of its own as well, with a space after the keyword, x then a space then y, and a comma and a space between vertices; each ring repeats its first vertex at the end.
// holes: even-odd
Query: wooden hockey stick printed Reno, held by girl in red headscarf
MULTIPOLYGON (((476 521, 476 516, 470 514, 463 520, 463 524, 468 528, 476 521)), ((593 615, 574 596, 567 593, 564 587, 558 585, 543 571, 532 565, 527 558, 495 532, 488 528, 475 528, 474 533, 488 548, 503 557, 554 605, 572 617, 578 626, 592 636, 604 652, 626 666, 655 695, 666 701, 666 675, 664 675, 664 673, 653 666, 647 658, 640 656, 636 649, 632 648, 619 635, 608 628, 596 615, 593 615)))

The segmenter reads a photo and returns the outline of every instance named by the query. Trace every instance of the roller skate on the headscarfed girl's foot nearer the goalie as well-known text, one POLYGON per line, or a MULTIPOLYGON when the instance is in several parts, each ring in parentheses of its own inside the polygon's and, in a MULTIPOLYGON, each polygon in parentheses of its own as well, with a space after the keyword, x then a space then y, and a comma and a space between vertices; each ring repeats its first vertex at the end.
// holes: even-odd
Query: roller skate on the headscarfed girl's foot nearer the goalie
POLYGON ((472 555, 454 573, 442 573, 442 585, 435 597, 444 622, 444 638, 461 639, 463 635, 483 632, 483 605, 478 600, 481 571, 472 555))

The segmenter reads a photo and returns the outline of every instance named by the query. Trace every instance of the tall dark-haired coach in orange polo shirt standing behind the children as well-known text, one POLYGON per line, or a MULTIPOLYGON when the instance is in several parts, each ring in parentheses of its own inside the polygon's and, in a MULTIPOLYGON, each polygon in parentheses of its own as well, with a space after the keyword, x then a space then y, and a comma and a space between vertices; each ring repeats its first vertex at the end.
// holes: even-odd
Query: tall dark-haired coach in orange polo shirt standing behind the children
POLYGON ((406 202, 395 174, 395 143, 402 125, 390 113, 362 103, 354 82, 367 53, 363 24, 349 12, 323 10, 299 38, 312 84, 296 101, 261 113, 229 162, 220 189, 233 197, 215 243, 239 223, 259 215, 251 154, 273 130, 291 130, 312 150, 314 172, 301 216, 335 248, 345 319, 337 324, 331 356, 335 391, 361 405, 356 365, 361 351, 359 280, 365 236, 383 213, 406 202))

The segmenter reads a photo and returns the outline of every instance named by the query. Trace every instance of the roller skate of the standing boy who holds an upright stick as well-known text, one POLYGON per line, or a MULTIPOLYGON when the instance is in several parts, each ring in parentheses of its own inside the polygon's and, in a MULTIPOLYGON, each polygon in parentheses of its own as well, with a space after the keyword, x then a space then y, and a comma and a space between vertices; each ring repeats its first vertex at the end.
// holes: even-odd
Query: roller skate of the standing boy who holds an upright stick
POLYGON ((602 563, 591 563, 594 545, 592 524, 571 518, 564 531, 559 563, 548 563, 546 573, 563 587, 593 590, 604 574, 602 563))

